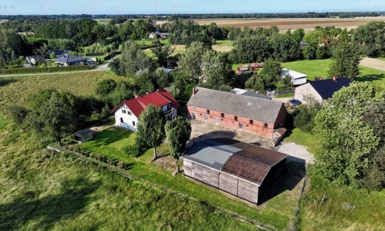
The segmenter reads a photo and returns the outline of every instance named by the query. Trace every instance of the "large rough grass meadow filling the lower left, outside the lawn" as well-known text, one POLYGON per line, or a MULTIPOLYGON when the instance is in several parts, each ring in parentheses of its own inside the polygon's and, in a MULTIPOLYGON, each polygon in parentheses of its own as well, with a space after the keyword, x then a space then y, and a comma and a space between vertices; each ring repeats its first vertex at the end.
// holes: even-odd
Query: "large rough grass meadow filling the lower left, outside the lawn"
POLYGON ((0 115, 1 230, 260 230, 74 156, 0 115))

